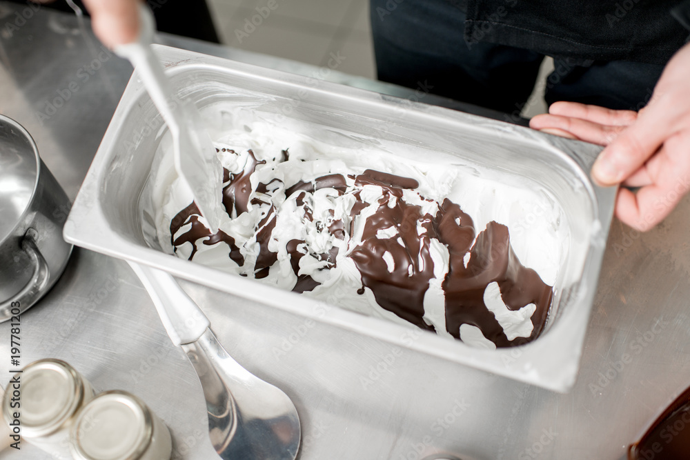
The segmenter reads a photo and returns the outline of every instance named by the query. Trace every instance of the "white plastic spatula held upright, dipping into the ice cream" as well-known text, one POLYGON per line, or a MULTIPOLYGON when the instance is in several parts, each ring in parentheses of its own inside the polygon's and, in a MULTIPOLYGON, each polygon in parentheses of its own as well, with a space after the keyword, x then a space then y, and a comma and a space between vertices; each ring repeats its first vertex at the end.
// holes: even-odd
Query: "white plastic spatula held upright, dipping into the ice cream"
POLYGON ((201 115, 190 101, 180 101, 171 90, 150 44, 153 40, 154 19, 143 3, 139 7, 139 39, 135 43, 119 45, 115 52, 129 59, 144 81, 153 103, 161 112, 172 134, 177 174, 190 189, 197 208, 206 218, 210 230, 220 226, 223 170, 208 132, 201 124, 201 115))

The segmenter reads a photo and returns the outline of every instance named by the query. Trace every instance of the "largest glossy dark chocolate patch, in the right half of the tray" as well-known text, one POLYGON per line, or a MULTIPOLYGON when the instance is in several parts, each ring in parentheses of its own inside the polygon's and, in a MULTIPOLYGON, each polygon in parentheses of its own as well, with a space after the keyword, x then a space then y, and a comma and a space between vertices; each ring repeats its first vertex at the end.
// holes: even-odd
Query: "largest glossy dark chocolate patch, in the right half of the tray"
MULTIPOLYGON (((375 181, 373 174, 357 177, 366 184, 375 181)), ((376 180, 384 188, 383 203, 364 226, 362 244, 350 257, 362 274, 363 288, 370 288, 377 303, 402 319, 424 329, 433 329, 423 319, 424 294, 433 277, 433 261, 429 254, 429 241, 436 238, 449 250, 449 271, 442 283, 446 298, 446 330, 460 339, 460 326, 470 324, 482 330, 484 337, 497 347, 516 346, 529 342, 542 332, 551 305, 553 291, 529 268, 525 268, 510 246, 508 228, 491 222, 484 232, 475 237, 471 217, 460 206, 445 199, 436 216, 422 216, 420 207, 409 206, 398 200, 388 208, 386 194, 401 196, 400 188, 376 180), (417 234, 417 223, 426 229, 417 234), (398 234, 388 239, 377 239, 378 230, 394 226, 398 234), (400 243, 402 241, 402 244, 400 243), (389 252, 394 261, 393 272, 388 271, 384 254, 389 252), (467 267, 464 257, 470 252, 467 267), (531 317, 533 330, 530 337, 509 340, 493 312, 484 304, 484 291, 489 283, 497 282, 501 297, 510 310, 518 310, 534 303, 531 317)), ((357 291, 363 294, 364 290, 357 291)))

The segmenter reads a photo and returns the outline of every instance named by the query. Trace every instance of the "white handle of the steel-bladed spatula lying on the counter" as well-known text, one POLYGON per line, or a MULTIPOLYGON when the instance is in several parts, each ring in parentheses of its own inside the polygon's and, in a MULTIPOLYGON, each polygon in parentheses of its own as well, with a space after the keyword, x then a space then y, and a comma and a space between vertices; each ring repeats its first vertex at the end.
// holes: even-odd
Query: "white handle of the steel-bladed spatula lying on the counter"
POLYGON ((199 339, 210 321, 175 278, 155 268, 131 261, 129 264, 148 291, 172 343, 181 346, 199 339))

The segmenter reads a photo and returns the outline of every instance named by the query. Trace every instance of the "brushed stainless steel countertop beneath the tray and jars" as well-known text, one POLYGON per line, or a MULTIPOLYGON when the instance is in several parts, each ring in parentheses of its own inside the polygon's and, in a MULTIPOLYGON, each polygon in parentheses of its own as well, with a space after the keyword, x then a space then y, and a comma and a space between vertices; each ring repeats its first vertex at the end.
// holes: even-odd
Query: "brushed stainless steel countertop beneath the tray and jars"
MULTIPOLYGON (((132 69, 90 31, 80 34, 75 17, 26 8, 0 2, 0 112, 27 128, 74 199, 132 69)), ((161 43, 288 72, 319 72, 188 39, 166 36, 161 43)), ((413 94, 337 72, 328 79, 413 94)), ((569 394, 182 285, 228 352, 295 400, 304 428, 300 459, 415 460, 448 452, 463 460, 618 460, 690 385, 689 227, 689 197, 647 234, 613 223, 580 374, 569 394)), ((9 323, 0 325, 0 337, 6 382, 9 323)), ((128 390, 144 399, 172 431, 173 458, 213 458, 196 375, 123 261, 75 250, 55 288, 22 315, 21 345, 22 364, 65 359, 98 390, 128 390)), ((2 455, 51 458, 26 442, 21 448, 2 455)))

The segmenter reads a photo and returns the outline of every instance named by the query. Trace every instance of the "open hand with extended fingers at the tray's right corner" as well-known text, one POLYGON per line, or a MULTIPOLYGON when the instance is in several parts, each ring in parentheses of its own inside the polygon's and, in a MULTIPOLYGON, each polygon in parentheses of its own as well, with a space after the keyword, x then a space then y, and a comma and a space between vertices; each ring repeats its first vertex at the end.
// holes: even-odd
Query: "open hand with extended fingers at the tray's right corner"
POLYGON ((640 112, 556 102, 529 126, 606 146, 592 178, 602 186, 641 187, 636 193, 619 190, 615 215, 649 230, 690 190, 690 44, 669 61, 640 112))

